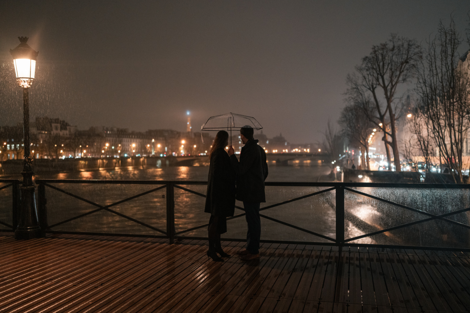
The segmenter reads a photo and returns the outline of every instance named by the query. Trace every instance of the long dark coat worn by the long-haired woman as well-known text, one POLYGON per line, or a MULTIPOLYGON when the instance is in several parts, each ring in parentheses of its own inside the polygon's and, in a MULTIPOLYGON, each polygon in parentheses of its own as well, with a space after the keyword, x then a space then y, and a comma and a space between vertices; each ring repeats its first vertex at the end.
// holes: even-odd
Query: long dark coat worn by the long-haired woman
POLYGON ((204 212, 219 217, 233 216, 235 212, 235 171, 224 148, 211 155, 204 212))

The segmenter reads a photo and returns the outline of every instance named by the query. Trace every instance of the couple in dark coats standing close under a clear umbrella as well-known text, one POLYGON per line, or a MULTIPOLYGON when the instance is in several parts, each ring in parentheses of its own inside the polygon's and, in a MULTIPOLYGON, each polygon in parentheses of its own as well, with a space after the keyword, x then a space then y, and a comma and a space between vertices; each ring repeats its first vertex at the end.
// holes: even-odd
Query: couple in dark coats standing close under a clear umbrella
POLYGON ((217 255, 228 258, 230 255, 222 250, 220 234, 227 232, 227 216, 233 216, 235 198, 243 201, 245 218, 248 224, 246 234, 246 249, 237 252, 240 260, 259 259, 259 237, 261 236, 261 221, 259 205, 265 200, 264 181, 267 177, 266 153, 253 138, 253 128, 243 126, 240 138, 245 145, 237 160, 234 148, 230 146, 228 153, 228 133, 220 130, 211 147, 207 197, 204 212, 210 213, 209 251, 207 256, 214 261, 223 262, 217 255), (236 183, 236 187, 235 187, 236 183))

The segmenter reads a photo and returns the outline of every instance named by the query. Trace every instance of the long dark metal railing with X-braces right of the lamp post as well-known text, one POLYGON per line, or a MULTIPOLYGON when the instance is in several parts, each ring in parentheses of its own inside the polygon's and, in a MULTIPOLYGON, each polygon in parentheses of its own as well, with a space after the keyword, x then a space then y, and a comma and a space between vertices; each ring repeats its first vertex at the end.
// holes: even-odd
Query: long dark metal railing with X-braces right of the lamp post
MULTIPOLYGON (((1 182, 1 181, 0 181, 1 182)), ((12 182, 13 183, 13 182, 12 182)), ((201 229, 207 227, 208 224, 201 224, 196 227, 191 227, 188 229, 183 229, 180 231, 175 230, 175 189, 186 191, 191 194, 197 195, 199 197, 205 198, 205 194, 188 189, 183 187, 183 185, 207 185, 207 182, 196 182, 196 181, 118 181, 118 180, 54 180, 54 179, 44 179, 44 180, 36 180, 36 183, 39 185, 38 188, 38 217, 39 217, 39 224, 44 234, 46 233, 63 233, 63 234, 86 234, 86 235, 105 235, 105 236, 130 236, 130 237, 160 237, 160 238, 168 238, 170 243, 173 243, 174 240, 181 240, 181 239, 207 239, 207 237, 195 237, 195 236, 182 236, 185 233, 194 231, 196 229, 201 229), (150 188, 147 191, 140 192, 138 194, 132 195, 130 197, 115 201, 111 204, 102 205, 99 204, 99 201, 92 201, 87 199, 86 197, 79 196, 76 192, 66 191, 63 188, 60 188, 56 184, 121 184, 121 185, 149 185, 155 186, 155 188, 150 188), (72 198, 76 198, 79 201, 83 201, 89 205, 95 207, 95 209, 89 210, 85 213, 74 215, 70 218, 64 219, 63 221, 55 222, 54 224, 48 224, 47 218, 47 189, 52 189, 68 195, 72 198), (135 198, 139 198, 141 196, 154 193, 155 191, 165 190, 165 200, 166 200, 166 229, 159 229, 155 226, 150 225, 147 222, 141 221, 139 219, 133 218, 127 214, 119 212, 118 210, 113 209, 114 206, 118 206, 122 203, 127 201, 133 200, 135 198), (154 232, 157 232, 158 235, 145 235, 145 234, 133 234, 133 233, 110 233, 110 232, 103 232, 97 229, 96 231, 64 231, 64 230, 54 230, 59 225, 63 225, 65 223, 78 220, 83 218, 87 215, 94 214, 100 211, 107 211, 111 214, 116 214, 122 218, 127 219, 128 221, 132 221, 143 226, 146 229, 150 229, 154 232)), ((15 183, 13 183, 15 184, 15 183)), ((17 183, 16 183, 17 185, 17 183)), ((13 186, 13 185, 11 185, 13 186)), ((397 229, 409 229, 421 223, 429 222, 429 221, 442 221, 447 224, 451 224, 454 227, 458 227, 468 231, 470 234, 470 226, 462 221, 456 221, 451 219, 452 216, 467 213, 470 211, 470 207, 462 208, 459 210, 447 210, 449 212, 445 212, 442 214, 434 214, 427 212, 419 207, 412 207, 408 205, 400 204, 396 201, 391 201, 389 199, 377 197, 376 195, 363 192, 357 189, 364 188, 364 187, 371 187, 371 188, 384 188, 388 191, 393 191, 396 189, 403 189, 409 190, 410 192, 416 189, 430 189, 430 190, 450 190, 450 189, 462 189, 462 190, 469 190, 470 185, 467 184, 427 184, 427 183, 287 183, 287 182, 266 182, 266 186, 277 186, 277 187, 317 187, 317 188, 325 188, 320 191, 315 191, 311 193, 306 193, 299 197, 290 198, 272 205, 262 206, 260 208, 260 216, 264 219, 273 221, 275 223, 287 226, 291 229, 296 229, 301 231, 305 234, 314 235, 316 237, 322 238, 324 240, 328 240, 328 242, 318 242, 318 241, 291 241, 291 240, 261 240, 262 242, 270 242, 270 243, 292 243, 292 244, 327 244, 327 245, 337 245, 337 246, 368 246, 368 247, 394 247, 394 248, 418 248, 418 249, 447 249, 447 250, 468 250, 470 249, 468 246, 464 247, 446 247, 446 246, 423 246, 423 245, 403 245, 403 244, 361 244, 361 243, 354 243, 361 238, 383 235, 395 231, 397 229), (334 191, 335 192, 335 201, 334 203, 330 204, 330 206, 335 210, 335 235, 336 236, 327 236, 325 234, 321 234, 320 232, 305 229, 305 227, 299 227, 295 225, 295 222, 286 222, 281 221, 280 219, 276 219, 272 216, 268 216, 263 213, 263 211, 268 210, 270 208, 274 208, 277 206, 286 205, 288 203, 292 203, 298 200, 306 199, 315 197, 317 195, 334 191), (367 197, 370 199, 374 199, 379 202, 386 203, 388 205, 396 206, 401 209, 404 209, 407 212, 413 212, 415 214, 421 214, 424 218, 419 218, 418 220, 408 221, 405 223, 401 223, 400 225, 391 226, 391 227, 384 227, 382 229, 376 229, 374 231, 370 231, 358 236, 354 237, 345 237, 345 221, 350 220, 351 213, 345 209, 345 191, 351 192, 355 195, 360 195, 362 197, 367 197)), ((5 186, 3 188, 6 188, 5 186)), ((373 193, 373 192, 371 192, 373 193)), ((263 204, 262 204, 263 205, 263 204)), ((73 207, 73 206, 71 206, 73 207)), ((236 206, 237 209, 242 211, 243 207, 236 206)), ((199 208, 199 210, 203 210, 203 208, 199 208)), ((227 220, 237 219, 244 216, 244 213, 236 214, 233 217, 228 217, 227 220)), ((302 216, 299 216, 302 218, 302 216)), ((425 234, 424 234, 425 235, 425 234)), ((232 240, 232 241, 244 241, 244 239, 240 238, 224 238, 224 240, 232 240)))

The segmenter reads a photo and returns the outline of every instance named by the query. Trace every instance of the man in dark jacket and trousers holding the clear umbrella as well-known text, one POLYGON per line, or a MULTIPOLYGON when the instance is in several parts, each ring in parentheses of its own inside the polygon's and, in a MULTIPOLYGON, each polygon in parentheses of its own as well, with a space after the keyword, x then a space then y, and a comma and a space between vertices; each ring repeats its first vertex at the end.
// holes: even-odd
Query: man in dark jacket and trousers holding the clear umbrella
POLYGON ((261 236, 261 220, 259 218, 259 205, 266 202, 264 181, 267 177, 266 153, 253 138, 253 128, 243 126, 240 137, 244 144, 240 153, 240 162, 235 156, 232 146, 228 149, 230 161, 236 171, 236 196, 243 201, 245 218, 248 224, 246 233, 246 249, 237 252, 240 260, 259 259, 259 238, 261 236))

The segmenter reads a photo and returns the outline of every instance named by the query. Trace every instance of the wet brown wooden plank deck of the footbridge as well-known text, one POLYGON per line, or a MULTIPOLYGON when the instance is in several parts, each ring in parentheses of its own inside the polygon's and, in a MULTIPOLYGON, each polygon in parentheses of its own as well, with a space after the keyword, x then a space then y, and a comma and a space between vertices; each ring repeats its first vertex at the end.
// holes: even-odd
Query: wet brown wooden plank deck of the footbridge
POLYGON ((469 253, 263 244, 218 263, 205 244, 3 236, 0 312, 470 312, 469 253))

